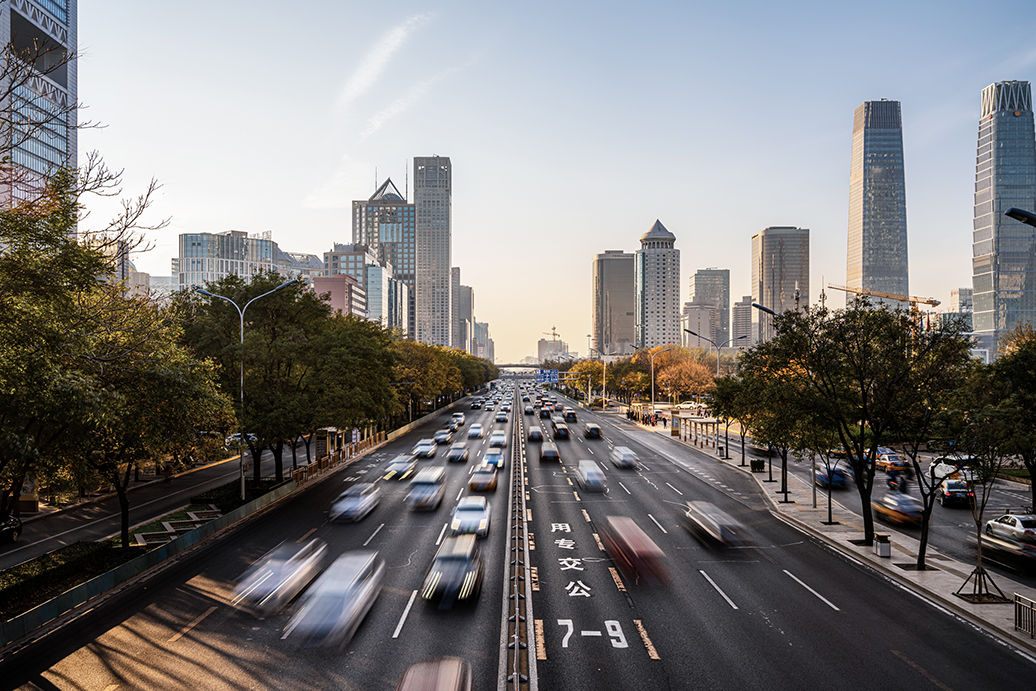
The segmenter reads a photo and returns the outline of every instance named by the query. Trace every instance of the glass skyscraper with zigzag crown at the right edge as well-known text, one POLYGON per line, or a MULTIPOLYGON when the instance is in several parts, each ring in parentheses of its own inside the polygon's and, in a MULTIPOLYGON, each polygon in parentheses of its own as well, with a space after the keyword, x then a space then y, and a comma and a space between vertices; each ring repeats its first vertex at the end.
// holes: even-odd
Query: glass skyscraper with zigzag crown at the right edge
POLYGON ((1004 212, 1036 211, 1036 142, 1029 82, 982 89, 975 170, 972 252, 974 314, 979 345, 989 353, 1005 332, 1036 323, 1036 228, 1004 212))

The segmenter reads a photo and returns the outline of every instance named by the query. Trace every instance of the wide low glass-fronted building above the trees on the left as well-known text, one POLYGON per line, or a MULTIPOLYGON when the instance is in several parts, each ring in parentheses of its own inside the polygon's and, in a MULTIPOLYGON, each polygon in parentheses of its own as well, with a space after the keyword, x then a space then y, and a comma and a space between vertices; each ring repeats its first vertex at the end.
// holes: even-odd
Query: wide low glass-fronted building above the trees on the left
POLYGON ((180 290, 230 276, 246 281, 259 271, 277 271, 280 250, 268 231, 249 235, 242 230, 181 233, 179 256, 173 257, 173 278, 180 290))

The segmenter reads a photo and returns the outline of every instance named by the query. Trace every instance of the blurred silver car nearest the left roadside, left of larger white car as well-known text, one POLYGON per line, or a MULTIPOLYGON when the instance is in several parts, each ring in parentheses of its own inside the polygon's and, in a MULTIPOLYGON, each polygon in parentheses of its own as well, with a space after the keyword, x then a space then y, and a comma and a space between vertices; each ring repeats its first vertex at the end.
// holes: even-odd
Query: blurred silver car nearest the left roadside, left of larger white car
POLYGON ((317 577, 326 556, 323 540, 281 543, 238 577, 231 602, 257 616, 272 614, 317 577))

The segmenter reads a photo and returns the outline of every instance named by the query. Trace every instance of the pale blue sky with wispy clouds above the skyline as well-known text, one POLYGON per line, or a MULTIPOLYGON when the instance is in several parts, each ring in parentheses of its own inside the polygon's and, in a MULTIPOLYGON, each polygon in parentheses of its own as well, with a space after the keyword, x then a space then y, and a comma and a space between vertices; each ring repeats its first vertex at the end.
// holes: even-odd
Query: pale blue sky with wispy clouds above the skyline
MULTIPOLYGON (((1036 3, 81 0, 81 154, 163 183, 136 258, 182 232, 351 241, 350 202, 454 164, 454 265, 497 357, 556 325, 585 352, 591 261, 677 236, 751 292, 750 238, 810 229, 810 297, 845 278, 853 111, 901 102, 911 292, 971 286, 979 94, 1036 81, 1036 3)), ((110 215, 91 202, 87 225, 110 215)), ((836 295, 835 304, 841 305, 836 295)))

